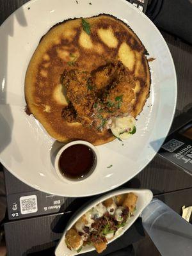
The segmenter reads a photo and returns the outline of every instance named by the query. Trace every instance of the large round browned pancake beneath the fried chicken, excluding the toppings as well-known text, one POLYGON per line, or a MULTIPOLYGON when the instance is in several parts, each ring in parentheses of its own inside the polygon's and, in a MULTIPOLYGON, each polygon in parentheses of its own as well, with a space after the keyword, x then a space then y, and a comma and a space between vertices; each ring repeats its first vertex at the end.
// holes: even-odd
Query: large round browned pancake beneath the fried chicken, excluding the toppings
POLYGON ((86 20, 91 26, 90 35, 83 31, 81 19, 70 19, 56 24, 42 37, 26 72, 25 95, 29 111, 53 138, 100 145, 115 138, 110 131, 97 132, 80 123, 69 124, 61 116, 67 100, 60 76, 65 68, 74 68, 68 65, 70 52, 76 53, 81 70, 91 71, 117 59, 131 70, 136 77, 134 117, 142 111, 148 97, 150 70, 145 47, 122 20, 106 14, 86 20))

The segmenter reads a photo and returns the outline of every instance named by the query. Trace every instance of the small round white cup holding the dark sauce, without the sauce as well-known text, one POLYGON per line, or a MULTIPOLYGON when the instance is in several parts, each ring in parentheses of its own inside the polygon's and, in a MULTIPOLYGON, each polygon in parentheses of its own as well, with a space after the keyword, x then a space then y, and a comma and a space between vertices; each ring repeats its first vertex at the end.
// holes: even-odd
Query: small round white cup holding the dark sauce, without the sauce
POLYGON ((60 148, 60 150, 58 151, 58 154, 56 154, 56 158, 54 161, 54 168, 56 170, 58 177, 60 177, 61 180, 64 180, 67 183, 73 184, 73 183, 77 183, 77 182, 84 182, 85 180, 88 180, 92 176, 93 172, 96 172, 98 170, 98 168, 99 168, 99 152, 98 152, 97 148, 92 145, 92 143, 89 143, 89 142, 83 141, 83 140, 72 141, 70 143, 65 144, 63 147, 60 148), (62 173, 60 171, 60 167, 59 167, 60 156, 64 150, 66 150, 68 147, 70 147, 72 145, 86 145, 92 149, 93 154, 95 155, 95 163, 93 163, 92 170, 90 170, 90 172, 88 172, 82 179, 75 179, 75 180, 69 179, 69 178, 65 177, 65 175, 62 175, 62 173))

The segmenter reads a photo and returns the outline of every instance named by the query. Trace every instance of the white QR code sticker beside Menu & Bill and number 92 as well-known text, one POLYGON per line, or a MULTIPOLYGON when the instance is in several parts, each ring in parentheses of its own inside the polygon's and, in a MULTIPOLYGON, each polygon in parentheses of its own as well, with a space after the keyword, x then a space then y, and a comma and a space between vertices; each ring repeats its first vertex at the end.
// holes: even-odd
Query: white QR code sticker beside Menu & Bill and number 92
POLYGON ((21 196, 19 200, 20 200, 21 214, 29 214, 32 212, 37 212, 36 195, 21 196))

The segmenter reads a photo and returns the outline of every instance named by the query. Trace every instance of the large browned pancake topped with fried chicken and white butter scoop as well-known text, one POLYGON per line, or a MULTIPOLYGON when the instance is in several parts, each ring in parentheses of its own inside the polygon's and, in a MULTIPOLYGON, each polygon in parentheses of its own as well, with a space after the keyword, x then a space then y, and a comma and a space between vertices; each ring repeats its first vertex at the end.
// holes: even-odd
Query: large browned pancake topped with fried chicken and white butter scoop
POLYGON ((150 90, 147 54, 112 15, 64 20, 42 37, 29 62, 28 109, 58 141, 129 138, 150 90))

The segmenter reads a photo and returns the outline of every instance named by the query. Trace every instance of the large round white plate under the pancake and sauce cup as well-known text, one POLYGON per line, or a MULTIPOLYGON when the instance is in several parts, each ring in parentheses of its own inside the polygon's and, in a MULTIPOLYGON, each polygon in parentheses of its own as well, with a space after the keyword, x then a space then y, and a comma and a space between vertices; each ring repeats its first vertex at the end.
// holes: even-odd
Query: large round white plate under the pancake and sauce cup
POLYGON ((13 175, 47 193, 88 196, 130 180, 156 155, 172 124, 177 79, 163 36, 140 10, 125 0, 33 0, 4 21, 0 38, 0 159, 13 175), (150 97, 138 116, 136 134, 123 143, 115 140, 97 147, 99 170, 88 180, 67 184, 56 175, 51 161, 60 145, 32 115, 24 112, 24 77, 40 38, 49 28, 68 18, 99 13, 109 13, 129 24, 150 57, 156 58, 150 62, 150 97))

